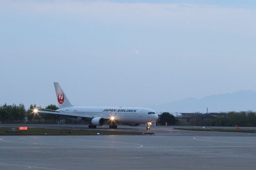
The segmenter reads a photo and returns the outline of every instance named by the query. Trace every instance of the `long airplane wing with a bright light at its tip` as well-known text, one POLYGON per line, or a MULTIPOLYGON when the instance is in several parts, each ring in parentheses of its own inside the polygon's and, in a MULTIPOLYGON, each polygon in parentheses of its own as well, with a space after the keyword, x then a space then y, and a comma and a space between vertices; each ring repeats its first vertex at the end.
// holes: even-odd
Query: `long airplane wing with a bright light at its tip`
POLYGON ((49 114, 54 114, 54 115, 62 115, 66 117, 84 117, 84 118, 93 118, 92 115, 84 115, 84 114, 79 114, 79 113, 68 113, 68 112, 59 112, 59 111, 54 111, 50 109, 42 109, 42 108, 37 108, 37 111, 34 110, 34 112, 37 113, 49 113, 49 114))

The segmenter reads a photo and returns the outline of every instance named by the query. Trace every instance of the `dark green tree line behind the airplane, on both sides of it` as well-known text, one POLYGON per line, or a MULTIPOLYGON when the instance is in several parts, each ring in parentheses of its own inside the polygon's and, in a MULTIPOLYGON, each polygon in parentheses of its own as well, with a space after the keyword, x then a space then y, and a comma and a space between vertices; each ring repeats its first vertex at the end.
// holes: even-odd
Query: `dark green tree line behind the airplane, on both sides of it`
MULTIPOLYGON (((54 114, 36 114, 33 109, 38 107, 36 104, 30 105, 26 110, 24 104, 19 105, 0 105, 0 122, 1 123, 57 123, 62 119, 60 115, 54 114)), ((57 110, 56 105, 50 104, 44 109, 57 110)), ((74 120, 64 118, 66 123, 77 123, 74 120)), ((172 114, 164 112, 160 115, 158 125, 189 125, 189 126, 240 126, 256 127, 256 112, 229 112, 226 115, 217 117, 197 117, 189 122, 182 123, 172 114)))

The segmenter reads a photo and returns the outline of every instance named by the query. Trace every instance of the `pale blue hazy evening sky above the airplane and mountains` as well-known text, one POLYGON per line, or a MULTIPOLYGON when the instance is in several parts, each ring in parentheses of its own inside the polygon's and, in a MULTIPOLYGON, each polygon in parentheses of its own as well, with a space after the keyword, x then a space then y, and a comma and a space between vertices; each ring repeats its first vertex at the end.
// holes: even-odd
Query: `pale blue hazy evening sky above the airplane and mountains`
POLYGON ((256 91, 253 0, 2 0, 0 105, 162 104, 256 91))

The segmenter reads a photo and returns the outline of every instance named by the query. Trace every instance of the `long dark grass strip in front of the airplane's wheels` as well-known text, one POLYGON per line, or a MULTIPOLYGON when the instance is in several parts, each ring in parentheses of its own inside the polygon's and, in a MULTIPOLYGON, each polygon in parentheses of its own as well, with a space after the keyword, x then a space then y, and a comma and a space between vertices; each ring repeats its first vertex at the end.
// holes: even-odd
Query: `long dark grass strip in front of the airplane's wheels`
POLYGON ((0 127, 0 135, 134 135, 134 134, 154 134, 152 132, 125 132, 114 130, 68 130, 53 128, 30 128, 21 130, 22 133, 11 133, 11 127, 0 127), (99 133, 99 134, 97 134, 99 133))

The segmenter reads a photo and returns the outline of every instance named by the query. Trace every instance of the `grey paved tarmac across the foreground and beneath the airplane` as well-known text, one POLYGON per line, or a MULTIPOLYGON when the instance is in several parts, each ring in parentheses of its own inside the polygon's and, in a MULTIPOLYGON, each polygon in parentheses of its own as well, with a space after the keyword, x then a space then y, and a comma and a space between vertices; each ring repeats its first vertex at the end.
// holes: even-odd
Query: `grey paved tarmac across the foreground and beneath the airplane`
MULTIPOLYGON (((85 125, 30 126, 87 128, 85 125)), ((144 126, 99 129, 147 131, 144 126)), ((256 169, 256 133, 188 131, 160 126, 152 127, 150 132, 155 134, 0 136, 0 170, 256 169)))

